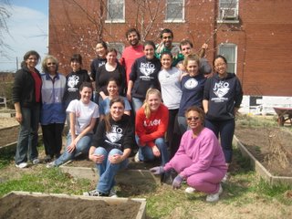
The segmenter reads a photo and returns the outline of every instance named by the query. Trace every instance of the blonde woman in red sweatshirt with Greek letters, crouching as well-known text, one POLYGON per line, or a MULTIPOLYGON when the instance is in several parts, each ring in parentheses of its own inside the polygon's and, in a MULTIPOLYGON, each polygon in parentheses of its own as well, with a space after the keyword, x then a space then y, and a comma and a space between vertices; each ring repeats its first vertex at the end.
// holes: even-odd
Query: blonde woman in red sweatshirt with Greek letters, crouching
POLYGON ((169 154, 164 141, 168 127, 168 109, 162 103, 158 89, 148 89, 141 109, 136 113, 136 141, 139 151, 135 162, 149 162, 161 157, 162 165, 169 162, 169 154))

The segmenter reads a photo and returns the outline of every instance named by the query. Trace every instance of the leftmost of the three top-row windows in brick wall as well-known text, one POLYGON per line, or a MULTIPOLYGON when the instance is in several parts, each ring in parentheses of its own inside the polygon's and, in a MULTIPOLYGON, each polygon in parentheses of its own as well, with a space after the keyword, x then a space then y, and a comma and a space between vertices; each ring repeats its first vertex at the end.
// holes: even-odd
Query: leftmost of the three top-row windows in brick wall
POLYGON ((124 22, 125 21, 125 1, 124 0, 108 0, 108 22, 124 22))

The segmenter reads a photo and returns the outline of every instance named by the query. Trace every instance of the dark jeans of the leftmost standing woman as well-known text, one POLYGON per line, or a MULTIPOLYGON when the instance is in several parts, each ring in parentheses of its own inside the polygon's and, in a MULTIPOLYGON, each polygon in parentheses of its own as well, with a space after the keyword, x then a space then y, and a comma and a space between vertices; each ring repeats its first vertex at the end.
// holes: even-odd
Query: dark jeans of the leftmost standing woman
POLYGON ((16 164, 35 160, 38 157, 37 139, 38 122, 40 115, 40 105, 36 104, 32 108, 21 108, 22 122, 18 134, 16 146, 16 164))

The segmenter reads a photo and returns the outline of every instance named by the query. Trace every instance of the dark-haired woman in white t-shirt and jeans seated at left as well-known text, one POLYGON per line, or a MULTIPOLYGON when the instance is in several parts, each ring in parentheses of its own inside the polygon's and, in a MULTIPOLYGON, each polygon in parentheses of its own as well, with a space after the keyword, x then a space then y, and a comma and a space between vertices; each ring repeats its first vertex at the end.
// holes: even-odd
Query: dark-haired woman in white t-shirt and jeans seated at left
POLYGON ((73 160, 80 153, 88 153, 93 136, 93 127, 99 118, 99 106, 90 101, 92 85, 83 82, 80 86, 80 99, 72 100, 68 109, 70 118, 70 130, 67 137, 67 145, 63 154, 54 162, 47 164, 47 168, 55 167, 73 160))

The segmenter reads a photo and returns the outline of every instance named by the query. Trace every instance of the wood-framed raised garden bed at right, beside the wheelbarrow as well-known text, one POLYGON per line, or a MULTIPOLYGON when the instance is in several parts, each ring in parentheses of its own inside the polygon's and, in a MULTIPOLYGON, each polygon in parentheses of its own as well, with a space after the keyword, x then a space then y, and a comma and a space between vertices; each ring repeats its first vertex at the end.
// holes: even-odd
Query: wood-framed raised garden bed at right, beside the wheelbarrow
POLYGON ((292 183, 291 130, 238 126, 234 141, 243 155, 250 158, 255 172, 266 182, 292 183))

